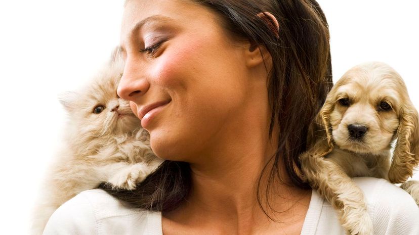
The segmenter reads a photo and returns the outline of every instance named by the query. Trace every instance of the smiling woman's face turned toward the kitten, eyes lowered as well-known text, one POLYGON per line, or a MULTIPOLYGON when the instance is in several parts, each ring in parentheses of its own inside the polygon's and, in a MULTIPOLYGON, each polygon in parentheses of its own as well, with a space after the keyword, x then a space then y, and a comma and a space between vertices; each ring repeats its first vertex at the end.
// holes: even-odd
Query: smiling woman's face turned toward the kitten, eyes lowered
POLYGON ((118 95, 131 101, 157 156, 191 162, 236 134, 232 128, 246 125, 240 117, 255 83, 244 61, 248 46, 229 37, 216 14, 192 2, 127 3, 118 95), (156 102, 168 103, 142 117, 141 110, 156 102))

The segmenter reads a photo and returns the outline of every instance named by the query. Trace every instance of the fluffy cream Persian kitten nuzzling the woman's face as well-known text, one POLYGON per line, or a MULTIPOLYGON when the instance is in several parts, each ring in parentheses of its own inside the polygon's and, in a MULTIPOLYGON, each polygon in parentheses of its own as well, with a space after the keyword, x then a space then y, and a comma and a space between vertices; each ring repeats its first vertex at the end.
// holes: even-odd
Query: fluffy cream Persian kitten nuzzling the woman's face
POLYGON ((104 182, 133 190, 162 162, 129 102, 116 95, 122 71, 123 61, 115 53, 87 87, 60 99, 68 122, 35 205, 33 235, 41 234, 52 213, 81 191, 104 182))

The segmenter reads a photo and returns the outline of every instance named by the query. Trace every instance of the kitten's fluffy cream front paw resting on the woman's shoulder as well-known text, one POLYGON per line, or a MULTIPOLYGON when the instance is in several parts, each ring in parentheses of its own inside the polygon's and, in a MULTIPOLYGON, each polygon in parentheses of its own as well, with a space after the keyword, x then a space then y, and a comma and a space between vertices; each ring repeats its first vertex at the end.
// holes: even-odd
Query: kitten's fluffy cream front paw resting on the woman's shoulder
POLYGON ((108 180, 108 183, 115 189, 135 190, 137 183, 143 181, 147 177, 147 172, 147 167, 141 163, 127 166, 113 175, 108 180))

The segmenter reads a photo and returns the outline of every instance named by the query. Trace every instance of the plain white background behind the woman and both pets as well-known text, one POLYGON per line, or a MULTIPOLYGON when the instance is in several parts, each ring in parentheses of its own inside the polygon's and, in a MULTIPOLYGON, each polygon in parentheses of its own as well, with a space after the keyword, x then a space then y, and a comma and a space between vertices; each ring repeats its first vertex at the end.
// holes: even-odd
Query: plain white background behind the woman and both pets
MULTIPOLYGON (((319 0, 331 33, 333 77, 383 61, 419 107, 417 1, 319 0)), ((0 3, 2 234, 26 234, 34 195, 65 115, 57 95, 95 73, 119 40, 123 1, 0 3)), ((415 175, 419 179, 419 175, 415 175)))

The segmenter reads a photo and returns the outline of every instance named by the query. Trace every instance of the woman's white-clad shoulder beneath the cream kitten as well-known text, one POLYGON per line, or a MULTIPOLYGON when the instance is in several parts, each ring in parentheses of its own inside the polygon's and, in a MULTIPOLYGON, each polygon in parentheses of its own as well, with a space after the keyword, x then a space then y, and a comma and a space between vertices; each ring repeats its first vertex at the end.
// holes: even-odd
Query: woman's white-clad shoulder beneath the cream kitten
POLYGON ((161 214, 133 207, 103 190, 88 190, 61 205, 44 235, 161 234, 161 214))

